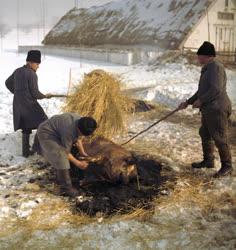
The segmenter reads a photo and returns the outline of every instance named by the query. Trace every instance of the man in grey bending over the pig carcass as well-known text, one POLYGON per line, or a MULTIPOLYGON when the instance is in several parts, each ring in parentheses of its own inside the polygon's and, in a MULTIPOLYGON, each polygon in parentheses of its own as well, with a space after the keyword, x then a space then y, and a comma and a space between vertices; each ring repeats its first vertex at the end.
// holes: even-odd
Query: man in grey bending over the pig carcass
POLYGON ((76 144, 80 155, 88 156, 81 137, 92 135, 96 128, 97 123, 93 118, 81 117, 74 113, 55 115, 39 126, 36 134, 39 145, 35 143, 34 150, 55 168, 61 195, 79 195, 79 191, 72 186, 70 162, 82 170, 88 167, 88 163, 77 160, 71 154, 71 148, 76 144))

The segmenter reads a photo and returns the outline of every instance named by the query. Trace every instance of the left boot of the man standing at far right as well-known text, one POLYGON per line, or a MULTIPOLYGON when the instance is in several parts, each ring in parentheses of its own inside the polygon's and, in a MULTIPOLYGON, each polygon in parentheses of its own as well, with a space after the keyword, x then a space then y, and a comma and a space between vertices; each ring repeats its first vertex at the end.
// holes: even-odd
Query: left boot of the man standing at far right
POLYGON ((203 161, 192 163, 192 168, 214 168, 214 143, 202 143, 203 161))

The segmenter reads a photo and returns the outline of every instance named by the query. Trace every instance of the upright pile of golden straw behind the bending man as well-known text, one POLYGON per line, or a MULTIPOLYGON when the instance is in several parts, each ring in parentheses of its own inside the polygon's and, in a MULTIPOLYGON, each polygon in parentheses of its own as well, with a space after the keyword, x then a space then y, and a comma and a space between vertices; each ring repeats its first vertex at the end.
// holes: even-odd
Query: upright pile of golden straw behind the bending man
POLYGON ((84 76, 67 98, 64 111, 91 116, 98 122, 95 136, 111 138, 125 130, 133 102, 121 92, 121 80, 103 70, 84 76))

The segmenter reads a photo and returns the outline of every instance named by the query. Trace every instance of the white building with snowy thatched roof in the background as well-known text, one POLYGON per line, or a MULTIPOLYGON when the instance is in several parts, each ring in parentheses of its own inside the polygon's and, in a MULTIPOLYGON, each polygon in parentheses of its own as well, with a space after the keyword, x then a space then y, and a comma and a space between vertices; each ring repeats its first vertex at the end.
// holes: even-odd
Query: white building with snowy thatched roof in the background
POLYGON ((43 43, 54 54, 129 65, 204 41, 236 61, 236 0, 109 0, 70 10, 43 43))

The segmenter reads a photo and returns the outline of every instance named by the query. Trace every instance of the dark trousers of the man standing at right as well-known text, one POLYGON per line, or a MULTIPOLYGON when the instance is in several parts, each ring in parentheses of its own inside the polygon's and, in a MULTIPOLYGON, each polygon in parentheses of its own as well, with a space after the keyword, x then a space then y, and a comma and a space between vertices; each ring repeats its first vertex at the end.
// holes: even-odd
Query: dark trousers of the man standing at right
POLYGON ((217 147, 222 163, 231 163, 229 146, 229 118, 224 111, 202 113, 202 126, 199 134, 202 139, 203 157, 205 160, 214 159, 214 145, 217 147))

